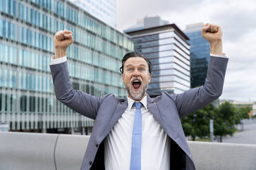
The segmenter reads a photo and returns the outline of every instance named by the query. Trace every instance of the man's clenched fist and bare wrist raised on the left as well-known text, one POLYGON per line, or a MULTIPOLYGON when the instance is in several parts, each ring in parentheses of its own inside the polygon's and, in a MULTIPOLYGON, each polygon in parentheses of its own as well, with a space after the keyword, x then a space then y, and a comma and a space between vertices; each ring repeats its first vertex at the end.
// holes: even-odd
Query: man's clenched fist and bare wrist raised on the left
POLYGON ((54 36, 55 56, 61 58, 66 56, 67 47, 74 42, 72 32, 67 29, 56 32, 54 36))

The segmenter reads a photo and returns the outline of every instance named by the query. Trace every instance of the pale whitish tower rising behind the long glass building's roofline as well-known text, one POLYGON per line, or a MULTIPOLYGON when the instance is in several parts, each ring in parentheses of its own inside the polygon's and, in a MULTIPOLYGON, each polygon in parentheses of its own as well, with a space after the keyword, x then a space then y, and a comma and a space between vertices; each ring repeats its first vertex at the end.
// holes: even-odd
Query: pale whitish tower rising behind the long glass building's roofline
POLYGON ((68 0, 97 19, 116 27, 116 0, 68 0))

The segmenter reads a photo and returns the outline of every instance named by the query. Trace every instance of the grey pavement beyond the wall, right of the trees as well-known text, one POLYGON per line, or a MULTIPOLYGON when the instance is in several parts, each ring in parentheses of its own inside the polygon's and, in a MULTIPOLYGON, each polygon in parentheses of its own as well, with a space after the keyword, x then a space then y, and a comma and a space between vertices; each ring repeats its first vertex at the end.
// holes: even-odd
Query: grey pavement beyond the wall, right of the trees
POLYGON ((244 130, 233 136, 222 137, 222 143, 243 143, 256 145, 256 122, 244 123, 244 130))

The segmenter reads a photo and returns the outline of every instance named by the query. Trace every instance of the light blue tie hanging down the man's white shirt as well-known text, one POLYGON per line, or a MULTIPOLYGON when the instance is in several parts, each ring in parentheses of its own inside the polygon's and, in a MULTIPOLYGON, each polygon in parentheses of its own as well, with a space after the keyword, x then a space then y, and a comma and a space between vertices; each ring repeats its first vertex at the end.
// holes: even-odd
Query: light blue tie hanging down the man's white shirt
POLYGON ((134 114, 134 132, 131 142, 131 164, 130 170, 140 170, 141 162, 141 124, 142 116, 140 112, 141 103, 135 102, 136 111, 134 114))

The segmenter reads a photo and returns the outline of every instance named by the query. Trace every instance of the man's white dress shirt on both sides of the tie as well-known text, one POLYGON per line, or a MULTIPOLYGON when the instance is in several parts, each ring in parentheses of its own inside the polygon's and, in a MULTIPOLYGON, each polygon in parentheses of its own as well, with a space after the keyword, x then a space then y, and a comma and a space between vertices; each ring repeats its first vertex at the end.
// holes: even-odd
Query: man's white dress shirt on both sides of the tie
MULTIPOLYGON (((105 138, 105 169, 128 170, 136 108, 128 99, 128 107, 105 138)), ((171 141, 147 108, 147 95, 140 101, 142 114, 141 169, 170 169, 171 141)))

